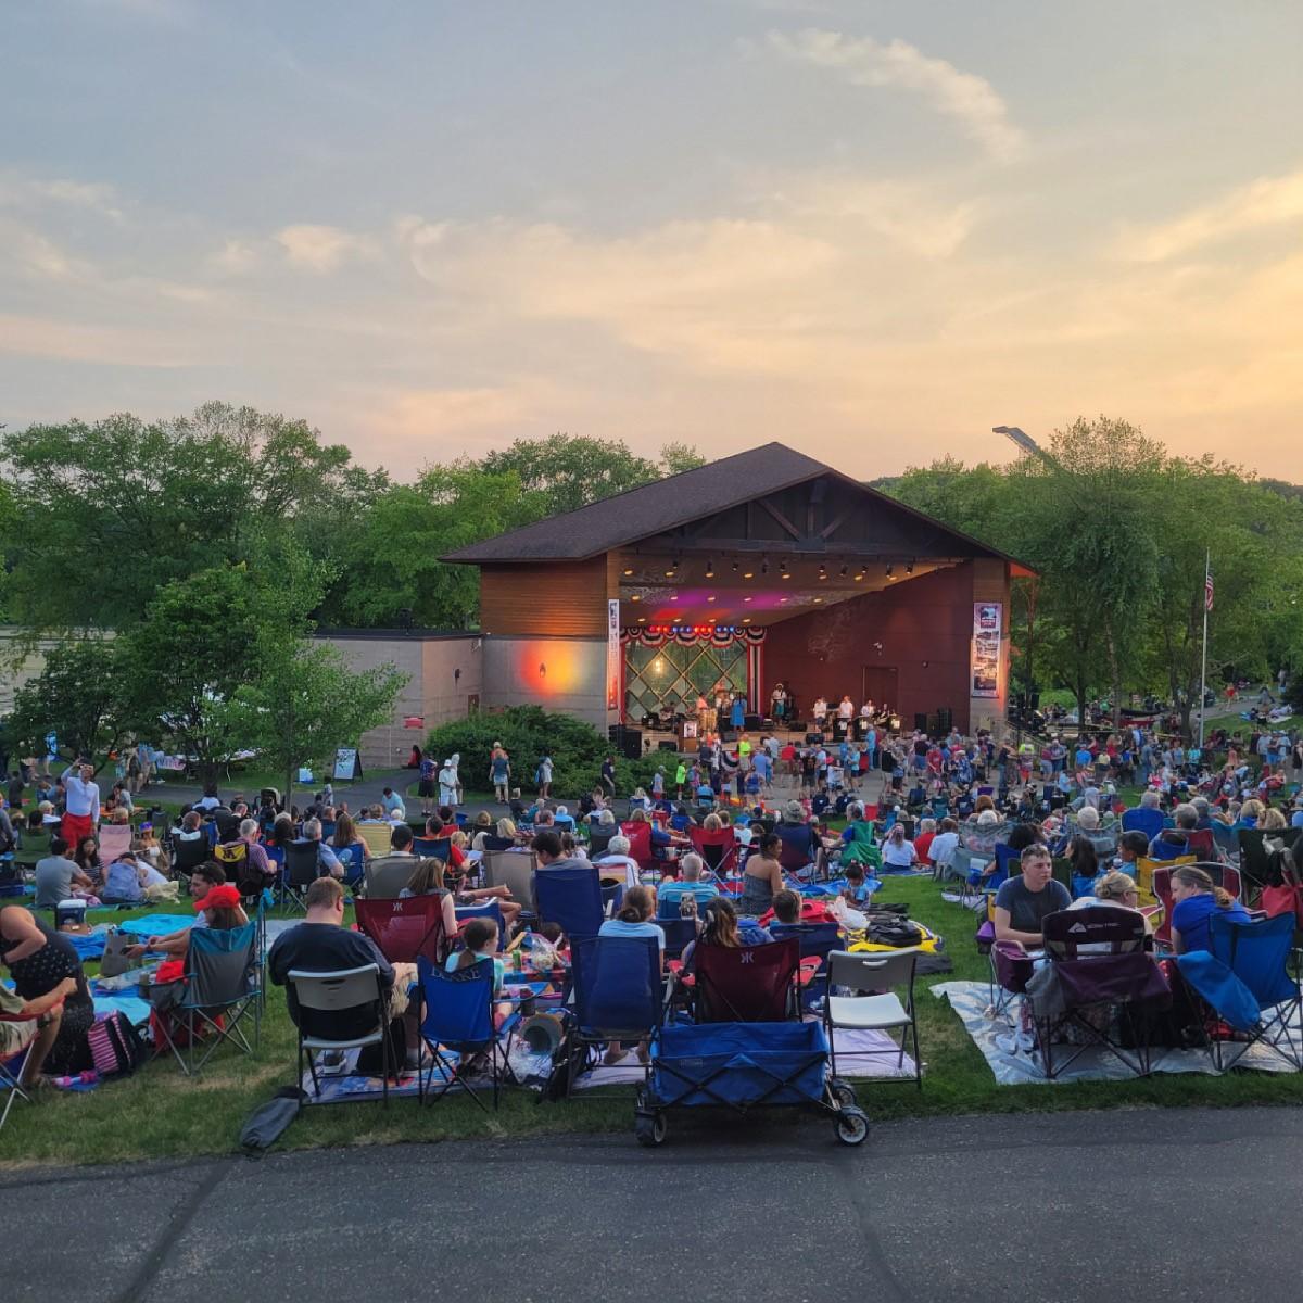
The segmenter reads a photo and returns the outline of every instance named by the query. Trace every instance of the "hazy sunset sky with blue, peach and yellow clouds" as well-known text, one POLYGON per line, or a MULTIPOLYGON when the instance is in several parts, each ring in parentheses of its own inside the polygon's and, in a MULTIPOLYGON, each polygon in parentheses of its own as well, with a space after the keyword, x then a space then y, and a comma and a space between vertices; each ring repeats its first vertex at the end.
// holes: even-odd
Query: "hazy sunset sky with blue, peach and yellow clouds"
POLYGON ((1303 481, 1303 7, 0 3, 0 422, 1303 481))

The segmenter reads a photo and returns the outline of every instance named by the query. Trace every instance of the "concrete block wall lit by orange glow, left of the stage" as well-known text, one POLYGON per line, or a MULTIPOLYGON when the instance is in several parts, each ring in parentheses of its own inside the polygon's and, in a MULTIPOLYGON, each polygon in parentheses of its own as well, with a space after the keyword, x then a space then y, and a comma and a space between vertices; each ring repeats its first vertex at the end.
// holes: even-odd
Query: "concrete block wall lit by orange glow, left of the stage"
POLYGON ((606 638, 486 637, 486 710, 538 705, 606 730, 606 638))

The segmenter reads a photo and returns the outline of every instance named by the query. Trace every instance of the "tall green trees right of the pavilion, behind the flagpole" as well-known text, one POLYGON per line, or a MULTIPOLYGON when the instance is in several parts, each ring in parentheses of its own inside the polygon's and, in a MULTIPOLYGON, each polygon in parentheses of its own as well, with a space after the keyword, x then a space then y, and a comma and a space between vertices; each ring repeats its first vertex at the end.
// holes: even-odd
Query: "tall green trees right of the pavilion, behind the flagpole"
POLYGON ((1014 585, 1016 693, 1067 689, 1078 718, 1106 697, 1175 702, 1188 735, 1208 683, 1303 670, 1303 496, 1210 456, 1170 455, 1126 421, 1078 420, 1037 456, 946 457, 883 491, 1033 568, 1014 585))

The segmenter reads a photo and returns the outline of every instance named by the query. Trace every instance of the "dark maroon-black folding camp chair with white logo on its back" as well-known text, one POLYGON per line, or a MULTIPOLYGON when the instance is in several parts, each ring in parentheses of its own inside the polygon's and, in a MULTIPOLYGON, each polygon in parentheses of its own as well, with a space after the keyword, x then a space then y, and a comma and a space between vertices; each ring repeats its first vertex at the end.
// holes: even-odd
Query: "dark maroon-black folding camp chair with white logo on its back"
POLYGON ((1148 1076, 1145 1015, 1171 1006, 1171 988, 1145 949, 1144 916, 1113 906, 1062 909, 1045 919, 1044 934, 1050 976, 1037 975, 1027 998, 1046 1079, 1062 1075, 1092 1045, 1136 1076, 1148 1076), (1055 1037, 1068 1027, 1076 1044, 1055 1063, 1055 1037))

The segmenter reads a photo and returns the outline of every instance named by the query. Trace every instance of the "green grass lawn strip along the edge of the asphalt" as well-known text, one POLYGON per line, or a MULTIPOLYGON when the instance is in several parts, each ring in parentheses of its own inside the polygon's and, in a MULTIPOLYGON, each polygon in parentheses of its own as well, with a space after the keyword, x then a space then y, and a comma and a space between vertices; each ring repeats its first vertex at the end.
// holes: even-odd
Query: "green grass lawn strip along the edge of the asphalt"
MULTIPOLYGON (((924 989, 954 979, 985 980, 986 960, 973 945, 973 915, 942 902, 930 878, 889 878, 880 899, 908 902, 913 917, 941 932, 955 972, 920 981, 920 1044, 926 1065, 923 1091, 900 1083, 861 1084, 861 1102, 873 1118, 1303 1104, 1303 1078, 1263 1072, 998 1087, 949 1005, 924 989)), ((229 1153, 244 1119, 293 1080, 293 1054, 294 1035, 284 993, 274 986, 267 995, 257 1058, 220 1050, 197 1080, 182 1078, 171 1058, 158 1059, 133 1078, 104 1083, 87 1095, 47 1091, 38 1106, 14 1105, 0 1132, 0 1162, 111 1162, 229 1153)), ((567 1104, 539 1105, 533 1095, 508 1092, 493 1118, 469 1100, 457 1098, 423 1109, 413 1098, 392 1100, 388 1110, 379 1104, 328 1105, 305 1109, 279 1143, 284 1148, 311 1148, 593 1131, 632 1131, 631 1104, 581 1096, 567 1104)))

